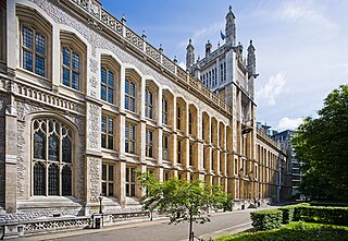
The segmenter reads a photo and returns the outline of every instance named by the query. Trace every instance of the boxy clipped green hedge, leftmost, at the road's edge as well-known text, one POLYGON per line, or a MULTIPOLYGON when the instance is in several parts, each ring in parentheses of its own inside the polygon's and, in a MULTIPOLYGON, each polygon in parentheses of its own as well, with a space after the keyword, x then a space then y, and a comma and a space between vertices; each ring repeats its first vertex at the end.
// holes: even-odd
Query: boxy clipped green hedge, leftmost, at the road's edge
POLYGON ((283 212, 279 209, 257 210, 250 215, 252 226, 258 230, 270 230, 282 226, 283 212))

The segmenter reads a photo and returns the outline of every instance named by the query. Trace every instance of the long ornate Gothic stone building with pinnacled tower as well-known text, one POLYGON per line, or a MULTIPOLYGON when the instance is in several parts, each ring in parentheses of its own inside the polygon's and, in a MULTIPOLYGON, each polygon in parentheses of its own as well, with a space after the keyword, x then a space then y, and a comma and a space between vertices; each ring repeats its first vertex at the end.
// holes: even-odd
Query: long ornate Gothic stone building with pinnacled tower
POLYGON ((104 221, 141 218, 138 170, 221 185, 235 209, 289 197, 257 128, 256 48, 225 20, 184 70, 97 0, 0 0, 0 226, 83 226, 101 198, 104 221))

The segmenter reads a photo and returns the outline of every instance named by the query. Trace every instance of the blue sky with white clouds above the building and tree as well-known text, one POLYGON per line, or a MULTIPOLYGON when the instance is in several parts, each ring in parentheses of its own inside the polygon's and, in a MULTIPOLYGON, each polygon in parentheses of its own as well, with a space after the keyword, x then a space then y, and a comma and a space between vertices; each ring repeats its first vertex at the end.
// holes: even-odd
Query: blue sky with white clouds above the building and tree
MULTIPOLYGON (((228 5, 237 41, 257 49, 258 121, 277 130, 296 128, 314 116, 325 96, 348 83, 348 1, 345 0, 101 0, 164 55, 185 63, 188 38, 197 56, 222 43, 228 5)), ((245 51, 246 53, 246 51, 245 51)))

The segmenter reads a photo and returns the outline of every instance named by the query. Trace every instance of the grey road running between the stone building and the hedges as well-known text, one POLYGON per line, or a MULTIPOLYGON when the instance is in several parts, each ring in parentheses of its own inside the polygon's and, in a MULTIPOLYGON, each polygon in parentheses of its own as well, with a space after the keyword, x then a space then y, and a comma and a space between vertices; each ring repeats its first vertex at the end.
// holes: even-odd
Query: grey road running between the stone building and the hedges
MULTIPOLYGON (((233 229, 250 227, 250 212, 256 209, 237 210, 213 214, 210 222, 195 224, 194 231, 197 237, 216 237, 228 233, 233 229)), ((37 237, 21 238, 21 241, 54 240, 54 241, 181 241, 187 240, 188 224, 169 225, 167 220, 128 224, 124 226, 108 227, 96 232, 85 230, 70 233, 52 233, 37 237), (66 237, 70 236, 70 237, 66 237)), ((240 230, 239 230, 240 231, 240 230)), ((208 240, 208 239, 207 239, 208 240)))

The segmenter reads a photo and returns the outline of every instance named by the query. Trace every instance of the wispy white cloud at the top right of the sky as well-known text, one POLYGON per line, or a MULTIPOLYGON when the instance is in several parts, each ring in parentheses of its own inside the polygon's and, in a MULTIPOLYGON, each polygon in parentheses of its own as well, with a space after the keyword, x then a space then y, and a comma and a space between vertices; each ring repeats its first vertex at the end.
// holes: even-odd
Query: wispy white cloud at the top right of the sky
POLYGON ((338 27, 309 1, 288 1, 277 14, 282 20, 294 23, 314 24, 327 28, 338 27))

